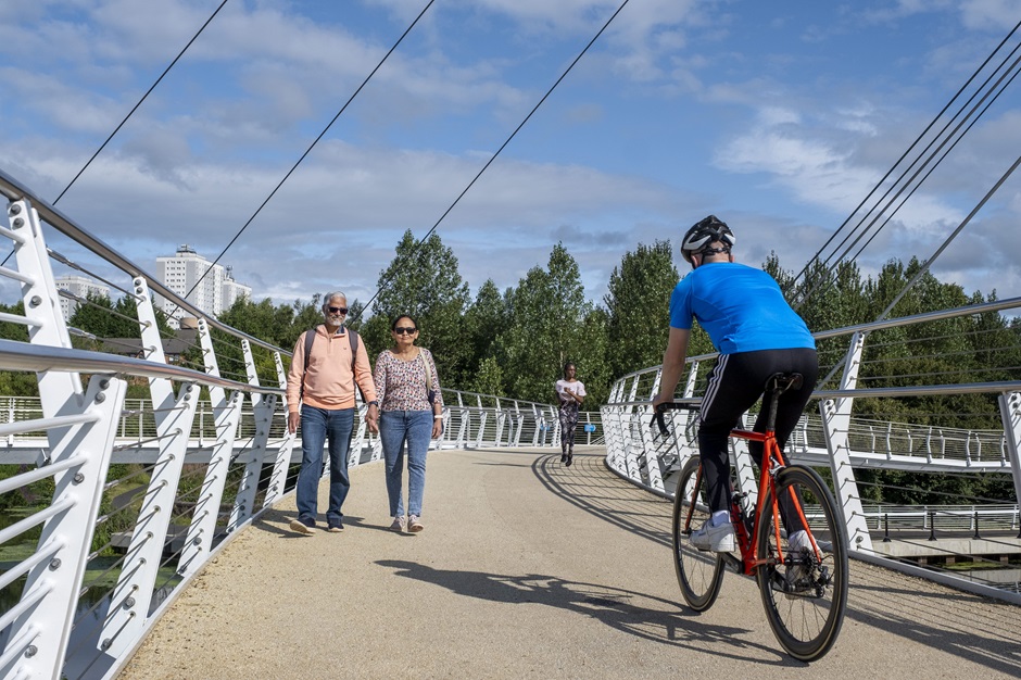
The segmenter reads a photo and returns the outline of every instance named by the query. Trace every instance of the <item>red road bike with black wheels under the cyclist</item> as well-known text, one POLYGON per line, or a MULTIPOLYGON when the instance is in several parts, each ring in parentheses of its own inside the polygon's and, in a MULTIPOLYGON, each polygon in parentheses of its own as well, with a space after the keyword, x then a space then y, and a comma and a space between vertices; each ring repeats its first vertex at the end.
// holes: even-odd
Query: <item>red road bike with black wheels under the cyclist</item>
MULTIPOLYGON (((673 566, 688 605, 705 612, 716 602, 723 582, 723 569, 755 577, 766 608, 766 617, 781 646, 803 662, 820 658, 833 646, 847 606, 847 530, 825 482, 814 469, 786 465, 777 443, 777 404, 787 389, 801 387, 799 374, 776 374, 767 380, 764 399, 771 399, 765 432, 733 429, 731 437, 764 444, 761 469, 754 506, 748 494, 735 489, 731 499, 740 556, 714 553, 692 545, 692 532, 711 512, 699 456, 692 456, 681 469, 673 502, 673 566), (780 518, 779 499, 791 494, 792 506, 806 527, 811 547, 787 550, 786 532, 780 518)), ((666 402, 653 416, 667 433, 664 412, 668 408, 697 408, 696 405, 666 402)))

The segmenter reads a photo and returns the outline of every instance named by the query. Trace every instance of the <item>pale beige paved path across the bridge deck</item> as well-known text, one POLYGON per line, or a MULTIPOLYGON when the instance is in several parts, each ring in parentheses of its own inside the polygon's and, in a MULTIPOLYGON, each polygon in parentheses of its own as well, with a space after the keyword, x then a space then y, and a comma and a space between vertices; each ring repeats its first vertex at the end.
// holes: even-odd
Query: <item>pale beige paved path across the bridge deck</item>
POLYGON ((291 496, 119 678, 1021 677, 1021 608, 856 562, 841 638, 811 666, 780 651, 751 580, 728 574, 693 614, 670 505, 602 455, 565 468, 549 450, 430 453, 417 536, 387 530, 380 464, 352 470, 343 533, 289 532, 291 496))

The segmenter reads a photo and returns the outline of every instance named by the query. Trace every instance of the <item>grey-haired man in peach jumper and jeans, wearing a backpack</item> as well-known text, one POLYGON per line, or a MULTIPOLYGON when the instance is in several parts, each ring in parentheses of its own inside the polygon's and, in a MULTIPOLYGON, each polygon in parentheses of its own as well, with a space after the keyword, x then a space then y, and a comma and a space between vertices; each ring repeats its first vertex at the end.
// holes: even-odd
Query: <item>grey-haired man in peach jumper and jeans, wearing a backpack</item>
POLYGON ((288 431, 297 431, 301 421, 301 469, 295 492, 298 518, 290 526, 304 534, 311 534, 316 526, 323 446, 327 439, 330 494, 326 525, 333 532, 344 528, 340 508, 351 489, 348 452, 354 429, 355 383, 368 404, 365 423, 370 431, 378 431, 379 410, 368 352, 360 342, 358 335, 343 326, 348 316, 348 298, 342 292, 331 292, 324 301, 324 323, 298 338, 287 376, 288 431))

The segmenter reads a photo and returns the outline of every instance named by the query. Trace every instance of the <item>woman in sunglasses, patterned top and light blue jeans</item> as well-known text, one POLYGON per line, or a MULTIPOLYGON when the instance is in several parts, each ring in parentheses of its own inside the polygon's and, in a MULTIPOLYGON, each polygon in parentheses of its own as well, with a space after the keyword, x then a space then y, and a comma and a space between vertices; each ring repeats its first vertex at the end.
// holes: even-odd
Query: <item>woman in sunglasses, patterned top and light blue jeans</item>
POLYGON ((418 324, 404 314, 390 325, 393 347, 376 360, 379 439, 387 465, 391 531, 421 531, 426 453, 443 432, 443 398, 432 354, 415 345, 418 324), (407 518, 404 517, 404 450, 407 444, 407 518))

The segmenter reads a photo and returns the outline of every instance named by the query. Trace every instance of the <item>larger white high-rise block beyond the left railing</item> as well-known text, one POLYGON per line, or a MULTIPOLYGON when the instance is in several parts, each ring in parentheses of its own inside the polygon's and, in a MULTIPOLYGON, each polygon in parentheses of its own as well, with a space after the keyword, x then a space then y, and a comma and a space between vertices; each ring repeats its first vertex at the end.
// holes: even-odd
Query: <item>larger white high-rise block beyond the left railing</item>
MULTIPOLYGON (((238 298, 252 294, 251 287, 234 280, 230 267, 212 264, 187 243, 178 248, 173 257, 156 257, 156 278, 210 316, 218 315, 238 298)), ((177 319, 188 314, 162 298, 160 304, 171 317, 172 326, 176 327, 177 319)))

